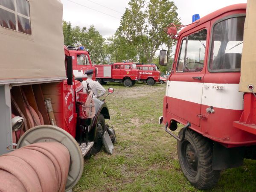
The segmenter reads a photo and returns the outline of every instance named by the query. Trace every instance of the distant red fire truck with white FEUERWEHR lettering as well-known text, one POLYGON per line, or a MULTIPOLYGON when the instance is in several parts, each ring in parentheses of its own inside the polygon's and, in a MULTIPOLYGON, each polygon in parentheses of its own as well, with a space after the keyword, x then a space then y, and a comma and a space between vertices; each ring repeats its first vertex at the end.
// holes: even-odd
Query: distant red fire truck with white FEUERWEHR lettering
POLYGON ((155 64, 136 64, 136 67, 139 70, 140 81, 146 82, 148 85, 160 82, 160 71, 155 64))

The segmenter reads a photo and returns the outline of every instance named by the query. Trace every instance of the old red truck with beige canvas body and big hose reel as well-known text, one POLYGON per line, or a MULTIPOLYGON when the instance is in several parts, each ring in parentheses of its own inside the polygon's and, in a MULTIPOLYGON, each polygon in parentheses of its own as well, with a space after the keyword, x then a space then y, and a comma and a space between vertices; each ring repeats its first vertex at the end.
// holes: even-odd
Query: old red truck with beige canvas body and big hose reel
MULTIPOLYGON (((105 124, 105 119, 110 118, 108 106, 93 98, 90 90, 83 93, 81 82, 73 78, 73 59, 63 47, 62 12, 60 0, 0 0, 0 52, 4 55, 0 61, 0 190, 15 183, 17 177, 23 178, 23 184, 29 183, 26 187, 38 187, 38 180, 47 183, 50 168, 61 162, 55 171, 60 175, 64 170, 68 173, 64 171, 65 176, 59 177, 53 188, 70 190, 82 175, 83 156, 98 152, 103 143, 106 148, 111 147, 109 140, 114 138, 114 131, 105 124), (37 148, 38 155, 33 150, 23 150, 24 146, 37 148), (65 150, 68 153, 62 155, 65 150), (61 158, 52 161, 51 154, 61 158), (21 164, 19 170, 12 167, 12 162, 6 164, 6 158, 12 158, 7 156, 16 155, 27 161, 26 169, 21 164), (31 162, 26 157, 38 161, 31 162), (31 168, 43 171, 31 180, 25 173, 31 168), (8 183, 2 182, 6 180, 8 183)), ((4 189, 25 190, 11 186, 4 189)), ((46 185, 26 191, 48 192, 49 188, 43 186, 46 185)))

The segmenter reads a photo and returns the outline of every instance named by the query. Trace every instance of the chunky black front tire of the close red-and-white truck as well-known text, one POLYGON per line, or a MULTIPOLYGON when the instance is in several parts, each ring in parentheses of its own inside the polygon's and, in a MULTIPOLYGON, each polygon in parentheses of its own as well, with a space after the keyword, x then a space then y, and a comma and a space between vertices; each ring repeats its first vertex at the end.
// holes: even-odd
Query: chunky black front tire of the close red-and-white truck
MULTIPOLYGON (((179 132, 182 138, 183 129, 179 132)), ((177 142, 180 167, 189 182, 198 189, 210 189, 218 183, 220 171, 212 170, 213 144, 202 135, 187 129, 185 139, 177 142)))

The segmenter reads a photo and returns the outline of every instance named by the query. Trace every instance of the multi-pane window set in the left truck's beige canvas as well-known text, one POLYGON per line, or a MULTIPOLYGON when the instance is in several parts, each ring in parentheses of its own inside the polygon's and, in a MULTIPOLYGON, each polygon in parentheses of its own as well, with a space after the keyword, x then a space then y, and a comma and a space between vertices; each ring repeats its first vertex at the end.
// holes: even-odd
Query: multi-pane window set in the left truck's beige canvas
POLYGON ((27 0, 0 0, 0 25, 31 35, 29 9, 27 0))

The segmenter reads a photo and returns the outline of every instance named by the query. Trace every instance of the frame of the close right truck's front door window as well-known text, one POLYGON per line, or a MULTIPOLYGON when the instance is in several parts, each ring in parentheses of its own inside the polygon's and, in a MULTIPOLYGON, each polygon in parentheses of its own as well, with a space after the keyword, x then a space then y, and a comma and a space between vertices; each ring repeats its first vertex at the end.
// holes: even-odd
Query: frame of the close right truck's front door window
MULTIPOLYGON (((179 56, 178 56, 178 58, 177 58, 177 61, 176 61, 176 66, 175 66, 175 72, 176 73, 201 73, 201 71, 202 70, 204 70, 204 66, 207 64, 207 62, 205 62, 205 59, 204 59, 204 66, 203 66, 203 68, 200 70, 200 71, 184 71, 184 69, 185 69, 185 61, 186 61, 186 55, 187 55, 187 48, 188 48, 188 37, 190 36, 190 35, 193 35, 193 34, 196 34, 196 33, 198 33, 198 32, 201 32, 202 30, 206 30, 206 40, 205 41, 207 41, 207 35, 208 35, 208 30, 207 30, 207 28, 206 27, 203 27, 203 28, 201 28, 201 29, 199 29, 199 30, 197 30, 197 31, 195 31, 195 32, 192 32, 191 34, 189 34, 189 35, 186 35, 185 37, 183 37, 182 39, 181 39, 181 41, 180 41, 180 47, 179 47, 179 56), (183 62, 183 69, 182 69, 182 71, 178 71, 177 70, 177 67, 178 67, 178 63, 179 63, 179 61, 180 61, 180 55, 181 55, 181 48, 182 48, 182 42, 183 42, 183 40, 185 40, 185 54, 184 54, 184 62, 183 62)), ((207 42, 206 42, 206 44, 205 45, 207 45, 207 42)), ((204 55, 204 58, 205 58, 205 56, 206 55, 204 55)))

